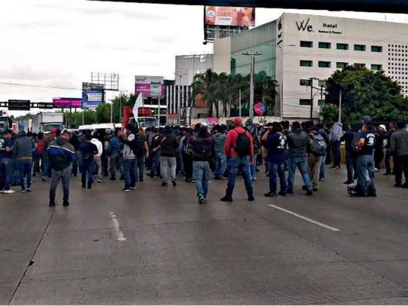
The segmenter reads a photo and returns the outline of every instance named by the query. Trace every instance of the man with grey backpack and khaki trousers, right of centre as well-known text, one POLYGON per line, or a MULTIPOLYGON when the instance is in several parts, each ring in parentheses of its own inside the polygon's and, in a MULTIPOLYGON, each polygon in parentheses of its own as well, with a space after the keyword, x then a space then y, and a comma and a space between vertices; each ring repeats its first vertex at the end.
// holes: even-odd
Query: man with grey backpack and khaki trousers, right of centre
POLYGON ((310 137, 312 138, 312 145, 309 147, 308 153, 308 171, 312 180, 312 190, 317 191, 317 184, 319 182, 320 166, 323 156, 326 155, 326 142, 322 135, 317 132, 315 126, 311 127, 310 137))

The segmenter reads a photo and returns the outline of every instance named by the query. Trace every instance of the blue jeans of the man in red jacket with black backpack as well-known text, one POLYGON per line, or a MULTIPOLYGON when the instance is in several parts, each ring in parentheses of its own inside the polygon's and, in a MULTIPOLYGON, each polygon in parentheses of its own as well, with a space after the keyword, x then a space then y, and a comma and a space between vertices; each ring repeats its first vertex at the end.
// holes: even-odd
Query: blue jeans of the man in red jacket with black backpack
POLYGON ((245 182, 245 188, 249 196, 253 196, 252 194, 252 183, 249 174, 249 156, 246 157, 232 157, 230 161, 228 161, 228 184, 227 184, 227 195, 232 196, 234 187, 235 187, 235 180, 237 178, 238 171, 241 171, 242 177, 245 182))

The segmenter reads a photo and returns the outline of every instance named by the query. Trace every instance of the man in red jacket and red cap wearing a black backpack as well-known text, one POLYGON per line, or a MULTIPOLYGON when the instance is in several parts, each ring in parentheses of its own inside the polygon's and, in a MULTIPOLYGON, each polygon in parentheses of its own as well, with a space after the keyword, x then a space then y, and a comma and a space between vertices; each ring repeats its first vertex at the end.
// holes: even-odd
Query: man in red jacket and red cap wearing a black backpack
POLYGON ((237 178, 238 171, 241 171, 246 192, 248 195, 248 201, 253 201, 252 183, 249 174, 249 165, 253 163, 253 144, 250 133, 243 129, 242 118, 234 118, 234 129, 228 132, 224 151, 225 155, 229 158, 228 161, 228 184, 225 191, 225 196, 221 201, 232 202, 233 191, 235 187, 235 180, 237 178))

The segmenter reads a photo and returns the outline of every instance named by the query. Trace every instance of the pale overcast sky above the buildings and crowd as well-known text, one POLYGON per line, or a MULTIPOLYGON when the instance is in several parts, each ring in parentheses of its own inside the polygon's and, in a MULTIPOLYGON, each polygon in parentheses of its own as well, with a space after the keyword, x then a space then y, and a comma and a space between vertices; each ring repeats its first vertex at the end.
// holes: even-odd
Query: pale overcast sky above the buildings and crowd
MULTIPOLYGON (((86 0, 2 0, 1 5, 0 83, 77 90, 0 84, 0 101, 81 97, 91 72, 119 73, 119 88, 133 91, 135 75, 174 79, 176 55, 212 53, 212 44, 202 44, 202 6, 86 0)), ((283 12, 257 8, 256 24, 283 12)), ((285 12, 406 22, 402 14, 285 12)))

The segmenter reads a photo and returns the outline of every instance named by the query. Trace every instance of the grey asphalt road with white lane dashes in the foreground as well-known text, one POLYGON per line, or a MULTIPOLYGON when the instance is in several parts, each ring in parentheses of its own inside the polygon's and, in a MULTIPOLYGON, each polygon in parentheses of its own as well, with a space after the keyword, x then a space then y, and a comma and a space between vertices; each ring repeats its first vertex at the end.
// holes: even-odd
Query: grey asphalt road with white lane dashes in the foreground
POLYGON ((241 179, 220 202, 214 181, 203 206, 146 177, 130 193, 73 179, 49 208, 37 177, 0 195, 0 304, 407 304, 408 190, 377 175, 376 198, 350 198, 344 171, 278 198, 260 172, 254 202, 241 179))

